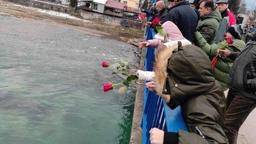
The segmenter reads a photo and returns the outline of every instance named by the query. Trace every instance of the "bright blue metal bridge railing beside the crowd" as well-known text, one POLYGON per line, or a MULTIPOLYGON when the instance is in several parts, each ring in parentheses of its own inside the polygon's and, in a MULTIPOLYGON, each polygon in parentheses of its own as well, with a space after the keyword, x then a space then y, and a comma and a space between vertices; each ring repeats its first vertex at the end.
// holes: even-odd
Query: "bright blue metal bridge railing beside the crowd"
MULTIPOLYGON (((155 35, 154 29, 147 28, 147 40, 153 39, 155 35)), ((154 48, 146 49, 145 56, 145 71, 153 71, 154 63, 154 48)), ((146 82, 145 82, 146 83, 146 82)), ((181 115, 181 106, 171 110, 164 99, 156 95, 155 92, 150 92, 144 87, 144 105, 143 118, 141 121, 142 127, 142 144, 149 144, 151 128, 159 128, 163 131, 177 132, 178 130, 187 131, 187 125, 181 115)))

